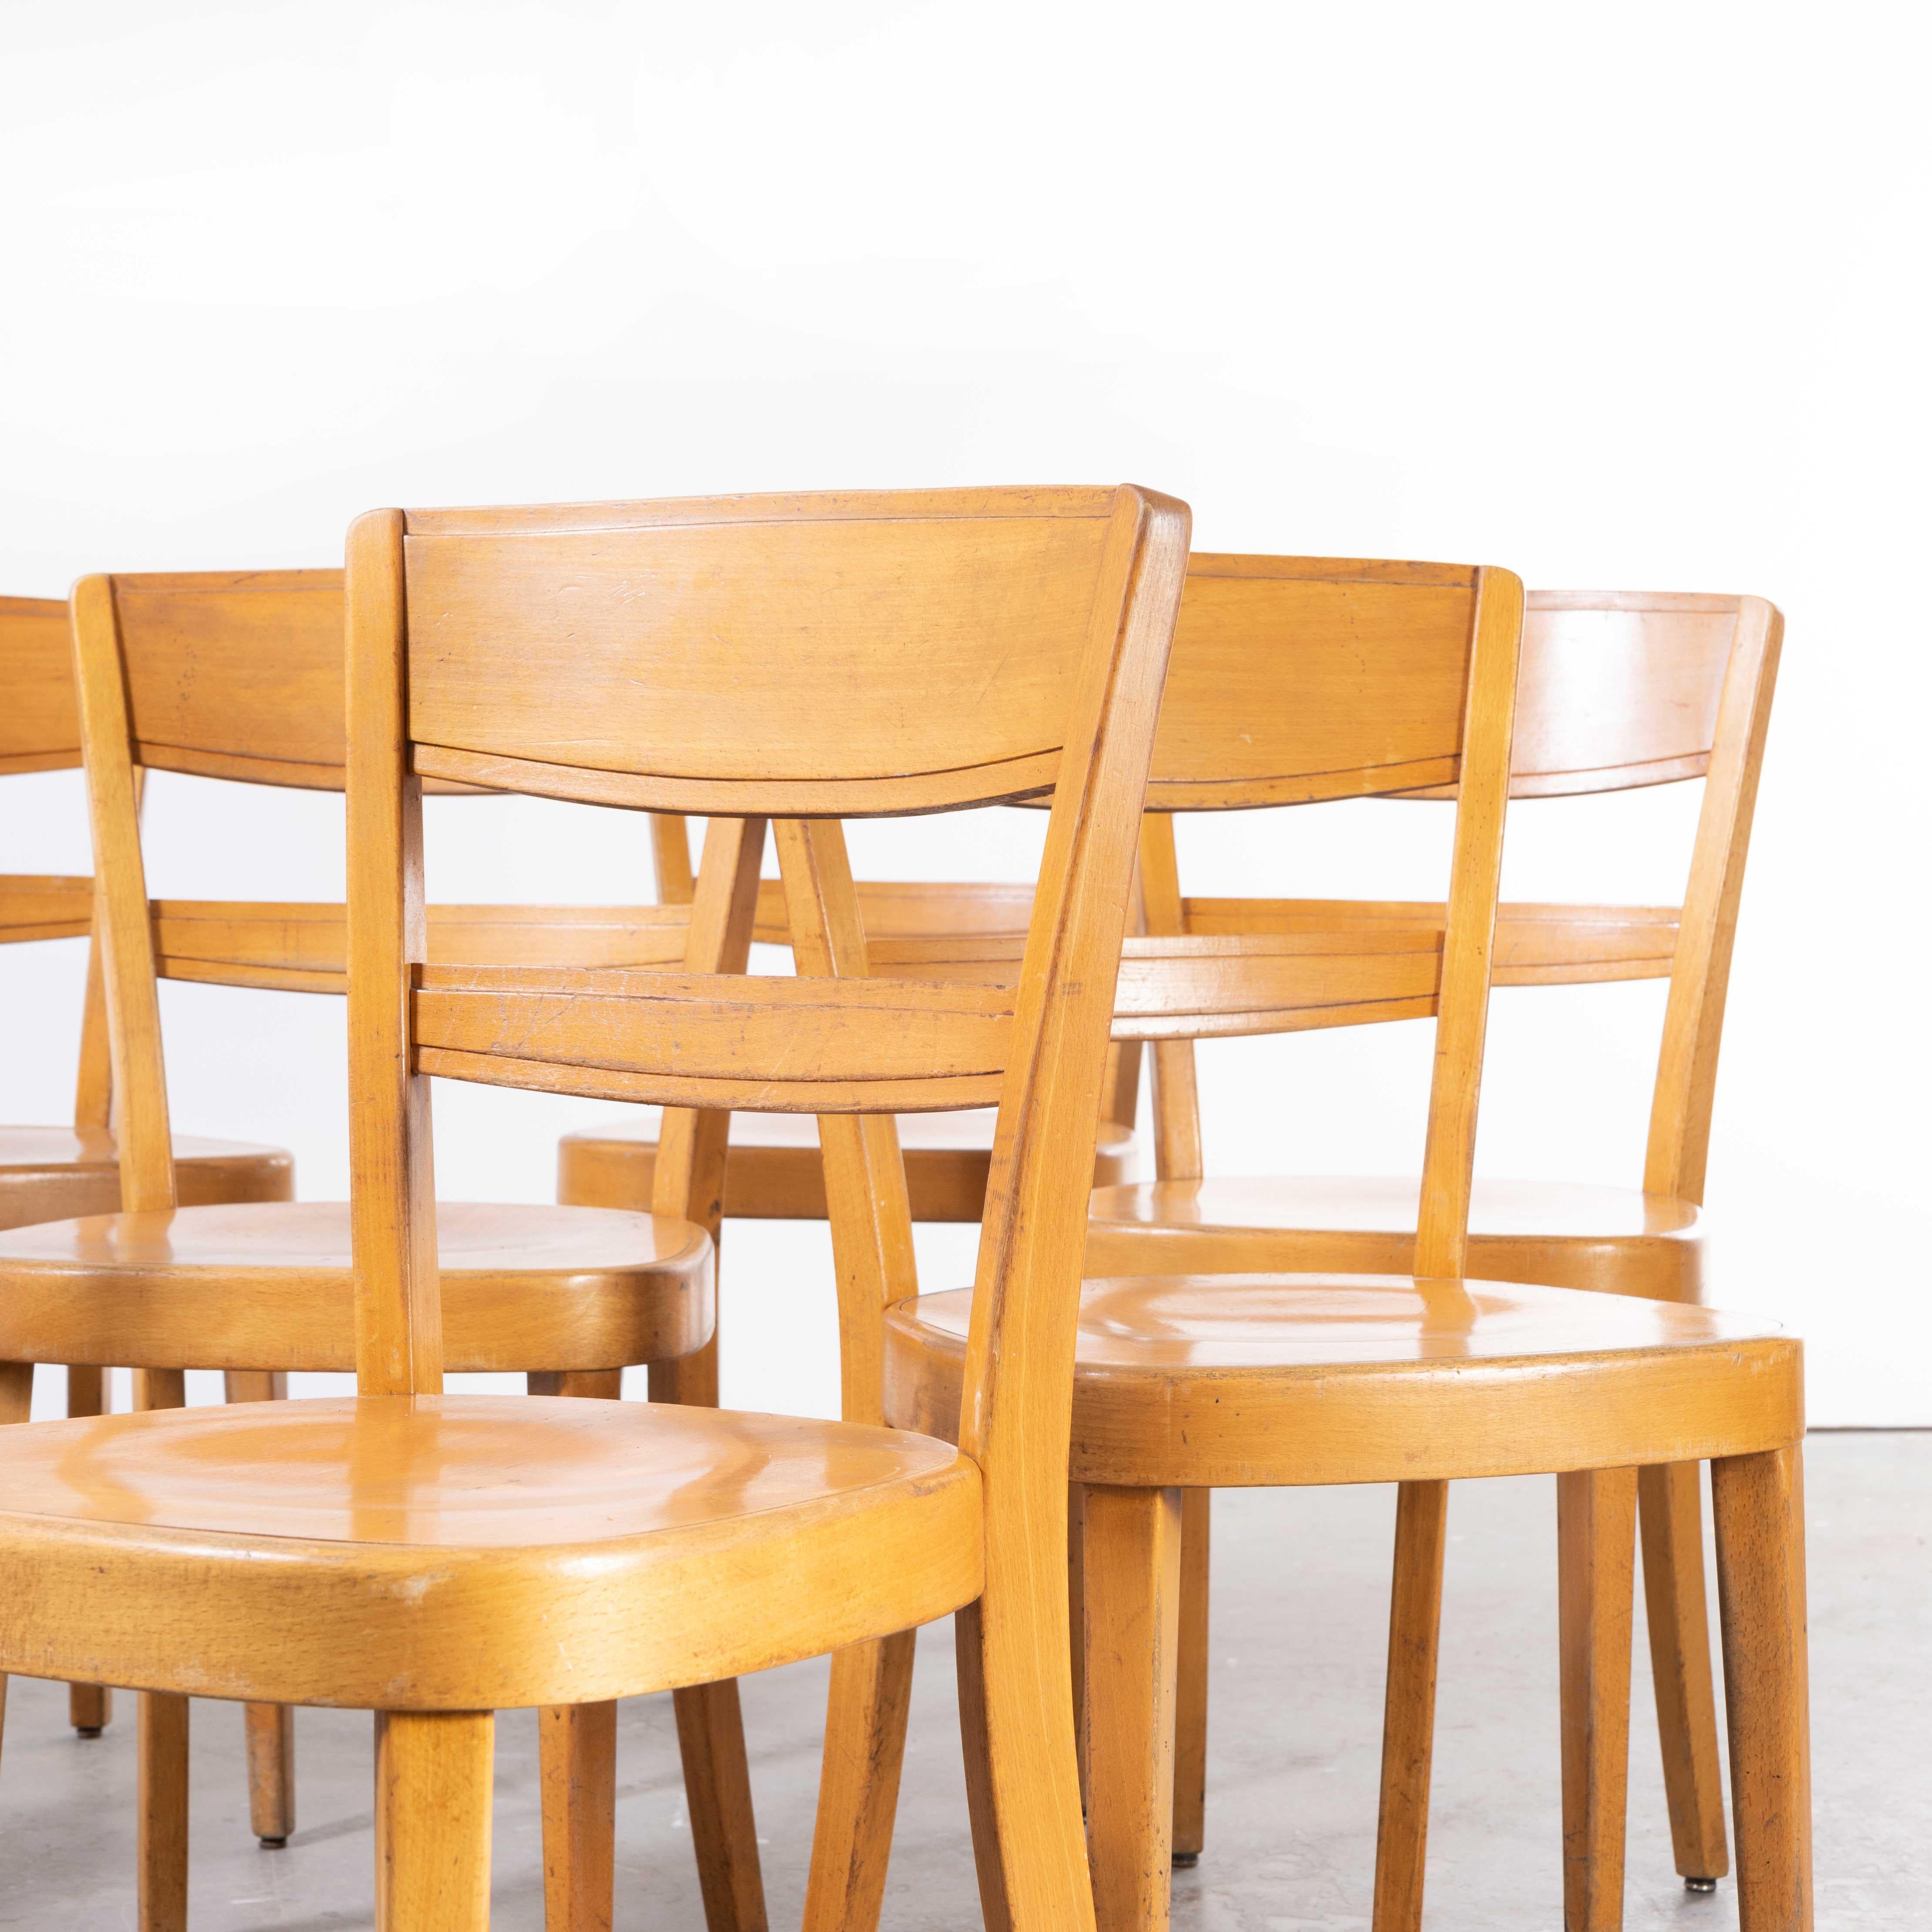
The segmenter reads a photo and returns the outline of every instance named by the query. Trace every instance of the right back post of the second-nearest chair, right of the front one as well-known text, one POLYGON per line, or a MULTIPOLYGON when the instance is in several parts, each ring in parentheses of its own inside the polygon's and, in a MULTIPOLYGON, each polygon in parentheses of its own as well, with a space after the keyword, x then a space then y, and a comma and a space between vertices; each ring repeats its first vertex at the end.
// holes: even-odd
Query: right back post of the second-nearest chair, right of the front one
POLYGON ((1503 883, 1503 821, 1522 655, 1522 582, 1507 570, 1476 580, 1468 701, 1457 784, 1455 856, 1443 923, 1435 1068, 1422 1148, 1416 1273, 1457 1277, 1468 1252, 1468 1196, 1476 1171, 1482 1049, 1495 960, 1495 904, 1503 883))

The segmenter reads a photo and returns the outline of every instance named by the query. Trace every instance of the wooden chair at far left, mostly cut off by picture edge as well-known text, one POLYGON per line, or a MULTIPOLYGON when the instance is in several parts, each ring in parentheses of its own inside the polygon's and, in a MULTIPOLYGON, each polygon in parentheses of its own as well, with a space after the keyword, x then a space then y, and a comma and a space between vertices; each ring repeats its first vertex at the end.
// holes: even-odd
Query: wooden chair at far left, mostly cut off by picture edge
MULTIPOLYGON (((68 607, 46 597, 0 597, 0 775, 71 771, 79 763, 68 607)), ((93 898, 93 879, 0 877, 0 945, 87 937, 93 898)), ((14 1020, 17 1024, 19 1014, 14 1020)), ((197 1206, 286 1202, 296 1192, 296 1163, 284 1148, 184 1134, 174 1144, 174 1186, 184 1204, 197 1206)), ((106 1001, 100 952, 91 945, 73 1126, 0 1124, 0 1229, 118 1208, 106 1001)), ((70 1364, 68 1414, 99 1416, 102 1399, 100 1368, 70 1364)), ((68 1721, 81 1737, 99 1737, 112 1716, 114 1698, 104 1687, 70 1687, 68 1721)), ((6 1681, 0 1679, 0 1725, 4 1721, 6 1681)))

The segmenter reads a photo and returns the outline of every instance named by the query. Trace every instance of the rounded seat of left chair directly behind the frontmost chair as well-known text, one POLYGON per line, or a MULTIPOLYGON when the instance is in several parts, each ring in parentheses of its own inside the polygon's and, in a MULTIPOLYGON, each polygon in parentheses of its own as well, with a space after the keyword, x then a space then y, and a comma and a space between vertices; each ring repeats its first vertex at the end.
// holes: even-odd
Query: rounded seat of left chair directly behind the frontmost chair
MULTIPOLYGON (((450 1370, 701 1349, 711 1238, 609 1208, 437 1204, 450 1370)), ((348 1202, 87 1215, 0 1233, 0 1360, 354 1370, 348 1202)))

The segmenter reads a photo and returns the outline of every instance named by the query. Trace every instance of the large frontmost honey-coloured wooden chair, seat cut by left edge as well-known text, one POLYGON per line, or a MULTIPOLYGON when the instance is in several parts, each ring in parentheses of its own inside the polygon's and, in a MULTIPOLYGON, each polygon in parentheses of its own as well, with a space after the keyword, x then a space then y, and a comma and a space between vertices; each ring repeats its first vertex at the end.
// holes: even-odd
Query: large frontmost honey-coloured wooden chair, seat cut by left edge
MULTIPOLYGON (((1061 1588, 1072 1316, 1186 535, 1184 506, 1132 489, 363 518, 359 1395, 0 1430, 0 1667, 143 1687, 151 1737, 189 1692, 377 1710, 377 1922, 442 1932, 489 1917, 493 1710, 833 1652, 808 1922, 862 1924, 896 1756, 840 1745, 902 1716, 906 1633, 958 1611, 989 1922, 1092 1924, 1061 1588), (705 813, 686 972, 425 964, 429 779, 705 813), (1049 786, 1016 991, 835 983, 864 978, 864 933, 817 815, 1049 786), (808 978, 734 972, 767 815, 808 978), (717 1109, 821 1113, 852 1420, 440 1395, 464 1316, 439 1293, 433 1074, 680 1109, 665 1206, 717 1194, 717 1109), (881 1314, 912 1285, 889 1117, 995 1101, 954 1453, 877 1424, 881 1314)), ((160 1117, 124 1094, 131 1128, 160 1117)))

